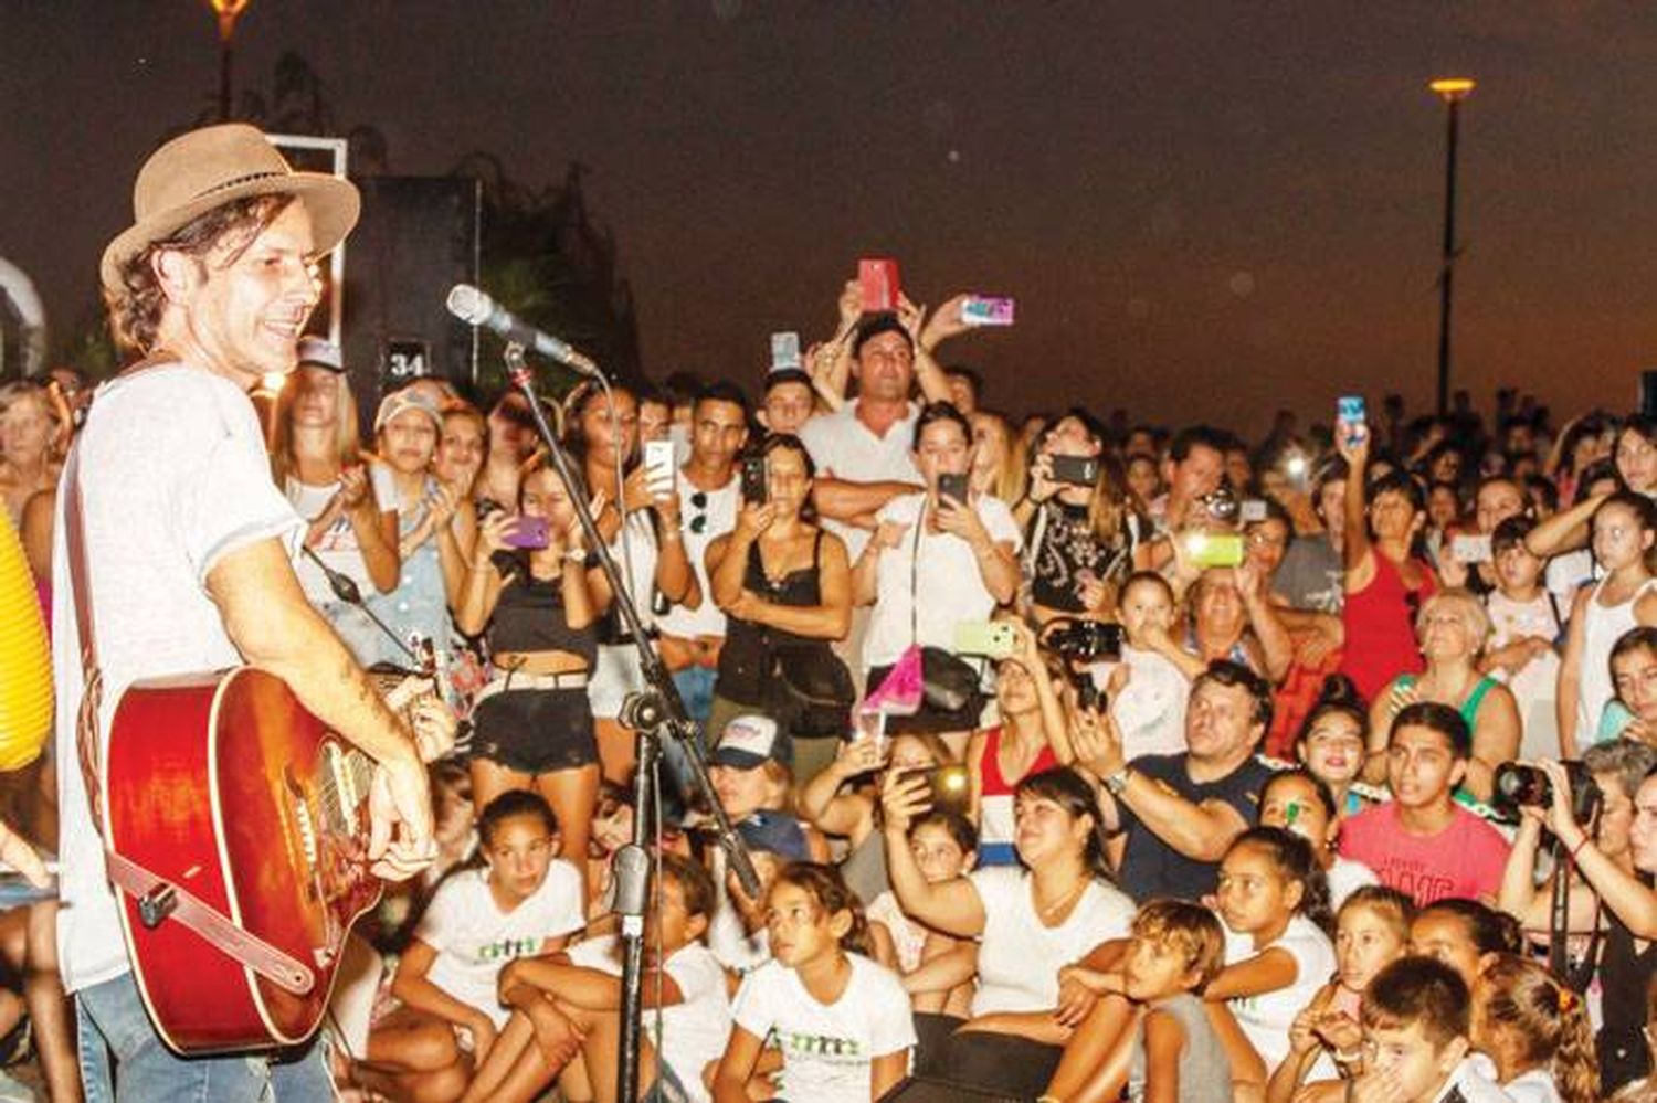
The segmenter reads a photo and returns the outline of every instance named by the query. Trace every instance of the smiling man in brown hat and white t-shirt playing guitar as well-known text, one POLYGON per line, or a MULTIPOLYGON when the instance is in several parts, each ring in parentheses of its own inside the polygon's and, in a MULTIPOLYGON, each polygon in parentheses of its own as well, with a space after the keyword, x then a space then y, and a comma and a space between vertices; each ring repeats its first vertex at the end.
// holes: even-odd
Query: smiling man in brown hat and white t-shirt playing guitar
MULTIPOLYGON (((374 873, 404 878, 432 856, 426 768, 408 724, 300 591, 290 556, 303 523, 272 484, 247 397, 263 373, 295 368, 318 298, 313 263, 350 232, 358 205, 350 182, 293 172, 250 126, 192 131, 149 157, 133 192, 134 225, 101 267, 113 328, 143 359, 103 388, 76 446, 78 558, 103 676, 101 747, 114 704, 138 679, 262 667, 374 759, 370 855, 374 873)), ((83 669, 68 485, 58 508, 58 946, 88 1096, 111 1098, 114 1086, 123 1101, 331 1098, 316 1047, 184 1058, 146 1015, 76 744, 83 669)), ((200 952, 219 951, 202 942, 200 952)))

